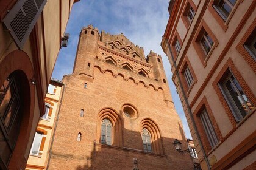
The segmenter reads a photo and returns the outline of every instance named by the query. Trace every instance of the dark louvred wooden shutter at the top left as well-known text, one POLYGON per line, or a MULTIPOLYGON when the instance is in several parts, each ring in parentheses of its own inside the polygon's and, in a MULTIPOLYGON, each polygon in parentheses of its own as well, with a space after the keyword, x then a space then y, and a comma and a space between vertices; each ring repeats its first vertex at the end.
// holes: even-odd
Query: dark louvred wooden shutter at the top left
POLYGON ((47 0, 20 0, 2 20, 4 28, 10 32, 18 49, 24 43, 34 28, 35 23, 47 0))

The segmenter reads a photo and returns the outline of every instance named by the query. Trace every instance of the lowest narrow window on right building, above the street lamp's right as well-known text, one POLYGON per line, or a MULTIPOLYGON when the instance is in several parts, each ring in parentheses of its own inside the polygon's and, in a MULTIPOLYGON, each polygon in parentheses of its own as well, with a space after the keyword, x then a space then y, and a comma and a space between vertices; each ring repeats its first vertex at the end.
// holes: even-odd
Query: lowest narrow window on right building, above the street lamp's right
POLYGON ((218 143, 218 137, 213 129, 212 122, 210 121, 210 118, 208 116, 207 110, 204 109, 202 113, 200 114, 200 118, 202 121, 202 124, 204 126, 205 133, 207 135, 208 141, 213 148, 218 143))

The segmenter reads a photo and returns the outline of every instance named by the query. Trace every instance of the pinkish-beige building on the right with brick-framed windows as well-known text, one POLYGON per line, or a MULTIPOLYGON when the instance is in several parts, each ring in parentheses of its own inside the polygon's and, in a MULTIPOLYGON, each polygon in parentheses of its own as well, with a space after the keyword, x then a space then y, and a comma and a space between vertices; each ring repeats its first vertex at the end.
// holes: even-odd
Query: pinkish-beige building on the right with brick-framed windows
POLYGON ((161 46, 202 169, 255 169, 255 4, 169 4, 161 46))

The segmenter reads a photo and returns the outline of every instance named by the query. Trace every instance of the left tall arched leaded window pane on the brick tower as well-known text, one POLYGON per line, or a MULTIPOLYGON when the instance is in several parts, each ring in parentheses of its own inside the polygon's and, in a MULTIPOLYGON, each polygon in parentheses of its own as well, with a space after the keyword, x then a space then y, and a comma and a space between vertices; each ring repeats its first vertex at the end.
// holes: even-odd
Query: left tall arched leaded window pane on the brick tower
POLYGON ((101 143, 112 145, 112 124, 106 118, 101 122, 101 143))

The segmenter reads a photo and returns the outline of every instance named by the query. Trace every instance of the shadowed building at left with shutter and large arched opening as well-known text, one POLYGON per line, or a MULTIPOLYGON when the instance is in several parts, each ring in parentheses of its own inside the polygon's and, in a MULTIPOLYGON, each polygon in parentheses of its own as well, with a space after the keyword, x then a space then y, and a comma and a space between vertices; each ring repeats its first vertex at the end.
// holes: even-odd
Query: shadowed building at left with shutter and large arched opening
POLYGON ((26 167, 74 2, 0 2, 0 169, 26 167))

